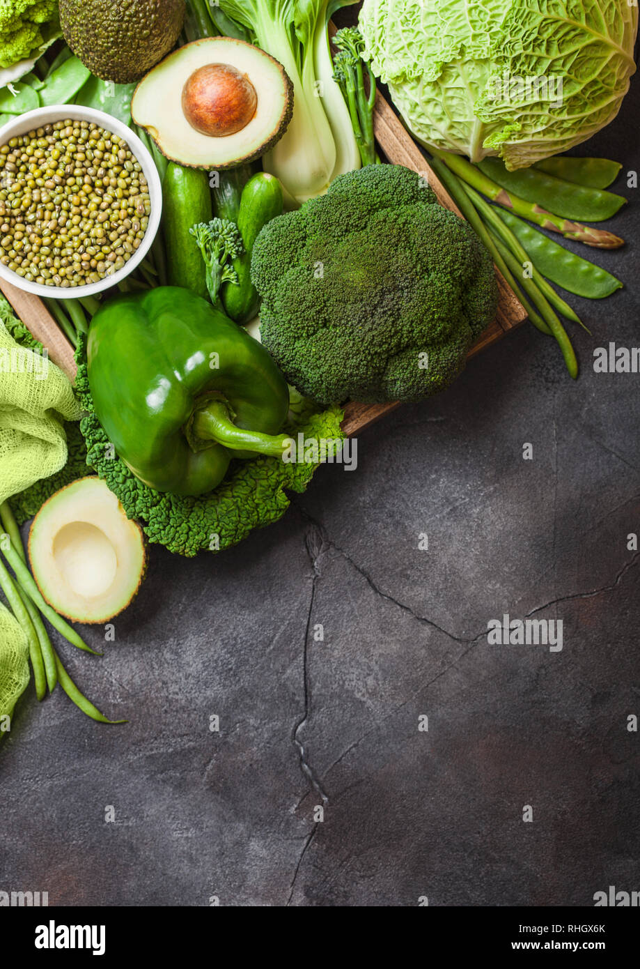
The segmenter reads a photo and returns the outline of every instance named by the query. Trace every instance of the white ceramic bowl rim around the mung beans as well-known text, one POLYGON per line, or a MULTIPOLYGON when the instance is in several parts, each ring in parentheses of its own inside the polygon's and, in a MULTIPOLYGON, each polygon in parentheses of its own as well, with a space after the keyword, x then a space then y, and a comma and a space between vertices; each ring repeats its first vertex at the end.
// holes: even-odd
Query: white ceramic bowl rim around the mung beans
POLYGON ((117 118, 111 117, 110 114, 106 114, 105 111, 97 111, 93 108, 82 108, 80 105, 51 105, 50 108, 38 108, 34 111, 27 111, 25 114, 19 114, 13 121, 9 121, 0 128, 0 145, 6 144, 7 141, 15 138, 16 135, 24 135, 27 131, 43 128, 46 124, 52 124, 55 121, 64 121, 65 118, 70 118, 73 121, 92 122, 127 142, 132 153, 140 163, 149 186, 151 215, 149 216, 149 225, 144 234, 144 238, 129 262, 125 263, 113 275, 101 279, 99 283, 87 283, 86 286, 70 287, 44 286, 42 283, 28 282, 21 276, 18 276, 13 269, 8 269, 7 266, 3 266, 0 263, 0 276, 8 283, 12 283, 20 290, 26 290, 27 293, 35 293, 36 296, 51 297, 53 299, 74 299, 76 297, 94 296, 96 293, 102 293, 112 286, 117 286, 119 282, 134 271, 136 266, 139 266, 146 256, 160 227, 160 219, 163 212, 162 184, 153 158, 131 128, 128 128, 122 121, 118 121, 117 118))

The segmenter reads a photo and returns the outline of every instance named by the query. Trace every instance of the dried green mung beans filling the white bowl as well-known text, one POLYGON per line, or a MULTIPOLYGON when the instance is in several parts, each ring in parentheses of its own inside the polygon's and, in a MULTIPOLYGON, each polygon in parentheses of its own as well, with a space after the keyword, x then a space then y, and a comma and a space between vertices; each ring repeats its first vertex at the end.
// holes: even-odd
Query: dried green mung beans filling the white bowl
POLYGON ((67 119, 0 145, 0 263, 27 282, 99 283, 142 243, 151 198, 119 136, 67 119))

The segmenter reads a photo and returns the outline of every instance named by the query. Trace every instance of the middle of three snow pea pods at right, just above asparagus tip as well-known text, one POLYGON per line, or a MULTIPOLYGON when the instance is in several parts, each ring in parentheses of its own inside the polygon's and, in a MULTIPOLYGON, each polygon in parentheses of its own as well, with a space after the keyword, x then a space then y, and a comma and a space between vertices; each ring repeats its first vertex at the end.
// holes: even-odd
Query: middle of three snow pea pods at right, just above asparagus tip
POLYGON ((575 185, 536 169, 507 172, 500 158, 485 158, 478 162, 477 167, 507 192, 564 219, 603 222, 615 215, 626 202, 622 195, 575 185))

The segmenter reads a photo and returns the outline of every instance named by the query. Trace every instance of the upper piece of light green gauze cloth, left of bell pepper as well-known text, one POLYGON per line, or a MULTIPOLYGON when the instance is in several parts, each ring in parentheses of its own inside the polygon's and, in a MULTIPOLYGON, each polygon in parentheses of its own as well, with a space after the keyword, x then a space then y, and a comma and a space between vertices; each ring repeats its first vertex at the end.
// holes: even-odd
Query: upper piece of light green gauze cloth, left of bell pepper
POLYGON ((64 467, 67 439, 62 421, 79 417, 74 391, 62 370, 18 346, 0 323, 0 505, 64 467))

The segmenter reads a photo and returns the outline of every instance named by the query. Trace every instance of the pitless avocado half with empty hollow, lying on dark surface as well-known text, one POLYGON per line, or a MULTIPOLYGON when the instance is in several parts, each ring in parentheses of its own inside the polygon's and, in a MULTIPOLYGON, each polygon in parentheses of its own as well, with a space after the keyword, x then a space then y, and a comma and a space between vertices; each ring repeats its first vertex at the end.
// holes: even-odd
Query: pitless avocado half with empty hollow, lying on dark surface
POLYGON ((29 561, 56 612, 75 622, 104 623, 137 593, 144 538, 104 481, 80 478, 56 491, 34 518, 29 561))

